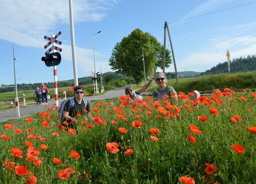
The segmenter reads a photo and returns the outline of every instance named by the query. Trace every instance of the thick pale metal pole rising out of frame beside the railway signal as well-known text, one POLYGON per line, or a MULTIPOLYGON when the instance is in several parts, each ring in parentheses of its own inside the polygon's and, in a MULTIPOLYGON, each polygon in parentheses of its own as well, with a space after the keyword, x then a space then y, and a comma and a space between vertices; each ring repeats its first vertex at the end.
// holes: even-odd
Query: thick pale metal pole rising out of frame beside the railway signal
POLYGON ((69 19, 70 19, 70 34, 71 34, 71 49, 72 49, 72 59, 73 59, 74 84, 76 86, 78 86, 78 74, 77 74, 77 67, 76 67, 75 34, 74 34, 74 19, 73 19, 72 0, 69 0, 69 19))

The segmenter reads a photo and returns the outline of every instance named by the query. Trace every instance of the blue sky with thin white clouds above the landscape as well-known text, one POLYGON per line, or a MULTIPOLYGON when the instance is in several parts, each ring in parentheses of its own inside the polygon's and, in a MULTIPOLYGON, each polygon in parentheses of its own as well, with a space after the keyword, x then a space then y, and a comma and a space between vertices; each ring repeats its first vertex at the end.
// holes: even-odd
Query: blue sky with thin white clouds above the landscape
MULTIPOLYGON (((62 48, 62 61, 57 66, 57 80, 74 79, 69 1, 0 2, 0 85, 14 84, 13 45, 15 57, 20 59, 15 61, 17 84, 54 82, 53 67, 47 67, 41 58, 49 48, 44 49, 48 42, 44 36, 59 31, 62 34, 57 40, 62 45, 56 46, 62 48)), ((227 61, 227 50, 231 60, 256 54, 255 9, 253 0, 73 0, 78 77, 91 76, 94 71, 92 35, 98 31, 101 33, 94 36, 96 70, 105 73, 112 71, 108 60, 114 45, 134 29, 149 32, 164 44, 165 21, 177 71, 206 71, 227 61), (179 21, 182 19, 186 20, 179 21)), ((171 50, 168 34, 166 48, 171 50)), ((173 64, 165 69, 174 71, 173 64)))

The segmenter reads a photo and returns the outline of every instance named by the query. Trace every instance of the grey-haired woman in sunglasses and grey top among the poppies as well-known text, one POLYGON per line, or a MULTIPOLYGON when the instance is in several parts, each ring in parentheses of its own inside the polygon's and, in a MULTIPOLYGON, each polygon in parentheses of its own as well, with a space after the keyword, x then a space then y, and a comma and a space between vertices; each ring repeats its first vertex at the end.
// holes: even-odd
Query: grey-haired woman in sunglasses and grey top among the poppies
POLYGON ((155 82, 156 82, 156 84, 158 84, 159 88, 157 88, 153 92, 154 101, 159 100, 159 99, 162 100, 165 95, 169 96, 169 100, 171 100, 172 93, 175 93, 174 96, 175 96, 175 99, 177 99, 177 93, 174 90, 174 88, 171 86, 167 86, 165 84, 167 82, 167 80, 166 80, 166 76, 164 73, 159 73, 158 75, 156 75, 155 82))

